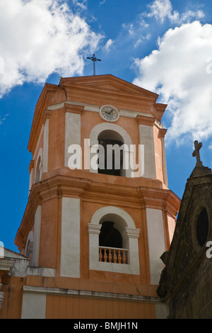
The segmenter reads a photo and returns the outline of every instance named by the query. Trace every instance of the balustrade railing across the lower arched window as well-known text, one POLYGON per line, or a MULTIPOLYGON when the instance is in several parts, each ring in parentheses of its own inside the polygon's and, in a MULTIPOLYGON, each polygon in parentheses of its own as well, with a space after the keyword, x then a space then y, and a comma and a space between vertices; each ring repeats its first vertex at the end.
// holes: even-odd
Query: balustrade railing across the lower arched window
POLYGON ((118 249, 115 247, 99 247, 99 260, 114 264, 127 264, 128 249, 118 249))

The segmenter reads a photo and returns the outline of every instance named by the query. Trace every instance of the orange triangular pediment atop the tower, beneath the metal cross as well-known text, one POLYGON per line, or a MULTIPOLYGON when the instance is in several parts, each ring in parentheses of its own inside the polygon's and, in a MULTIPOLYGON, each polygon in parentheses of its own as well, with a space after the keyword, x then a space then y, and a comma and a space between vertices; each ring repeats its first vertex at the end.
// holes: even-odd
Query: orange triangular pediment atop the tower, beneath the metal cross
POLYGON ((96 90, 116 91, 125 94, 136 94, 139 96, 153 98, 155 101, 158 98, 158 94, 136 86, 135 84, 131 84, 130 82, 114 77, 111 74, 92 77, 62 78, 60 84, 61 86, 76 85, 90 87, 90 89, 93 88, 96 90))

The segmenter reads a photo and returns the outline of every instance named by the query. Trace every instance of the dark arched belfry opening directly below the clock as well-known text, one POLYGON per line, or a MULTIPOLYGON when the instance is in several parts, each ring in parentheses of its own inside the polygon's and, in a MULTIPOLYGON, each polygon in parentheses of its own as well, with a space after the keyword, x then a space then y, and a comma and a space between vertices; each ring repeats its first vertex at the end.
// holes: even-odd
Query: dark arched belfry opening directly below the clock
POLYGON ((124 140, 114 130, 104 130, 98 135, 98 144, 101 146, 98 153, 98 173, 112 176, 124 176, 123 149, 124 140))

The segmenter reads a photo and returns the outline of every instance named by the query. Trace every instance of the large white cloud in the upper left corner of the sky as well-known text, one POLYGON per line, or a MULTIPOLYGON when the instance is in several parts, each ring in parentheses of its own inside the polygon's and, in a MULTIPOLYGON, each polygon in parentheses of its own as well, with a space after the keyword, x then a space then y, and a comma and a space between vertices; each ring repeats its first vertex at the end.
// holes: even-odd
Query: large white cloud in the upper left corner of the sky
POLYGON ((24 82, 43 83, 53 72, 81 75, 84 52, 93 52, 101 38, 66 1, 1 0, 0 96, 24 82))

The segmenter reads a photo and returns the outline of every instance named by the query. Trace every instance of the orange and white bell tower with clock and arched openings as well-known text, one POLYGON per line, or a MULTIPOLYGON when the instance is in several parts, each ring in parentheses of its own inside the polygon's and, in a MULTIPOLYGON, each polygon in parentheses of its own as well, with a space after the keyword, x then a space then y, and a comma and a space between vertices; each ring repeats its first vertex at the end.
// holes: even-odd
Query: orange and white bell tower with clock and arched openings
POLYGON ((160 256, 180 201, 168 188, 157 99, 110 74, 45 84, 15 239, 30 256, 23 318, 163 317, 160 256))

